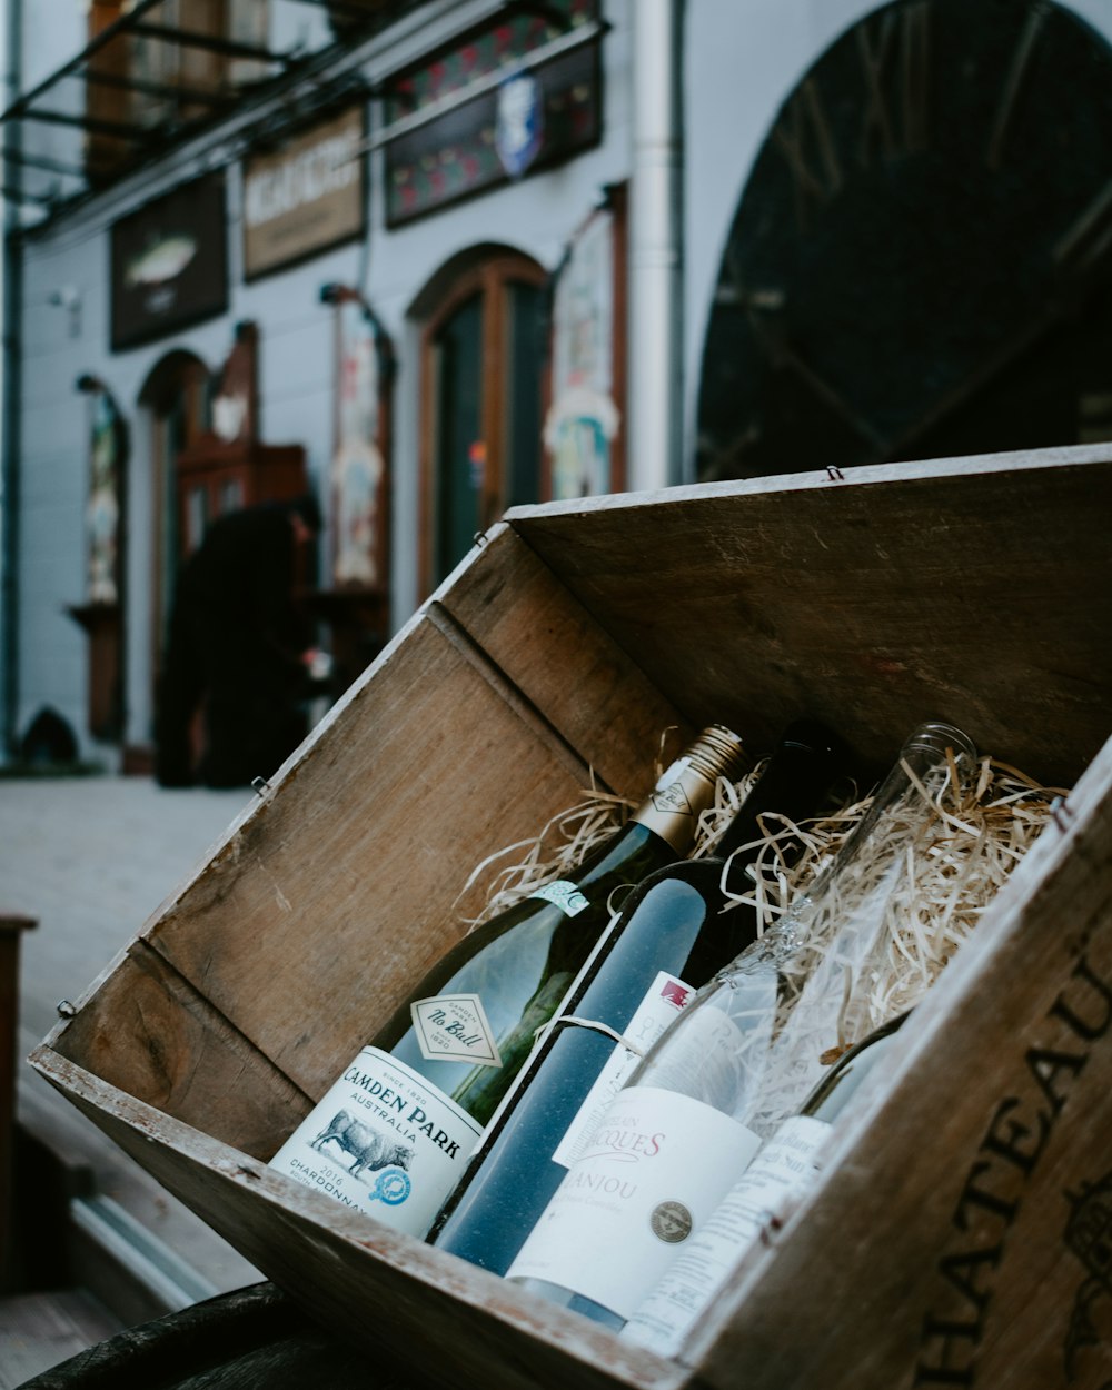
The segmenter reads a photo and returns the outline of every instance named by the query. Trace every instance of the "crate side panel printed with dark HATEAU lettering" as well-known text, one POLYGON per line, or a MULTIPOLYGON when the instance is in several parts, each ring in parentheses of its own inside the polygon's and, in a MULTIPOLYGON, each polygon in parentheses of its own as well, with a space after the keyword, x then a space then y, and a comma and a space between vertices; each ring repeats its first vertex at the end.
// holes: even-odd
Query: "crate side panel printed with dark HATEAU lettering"
POLYGON ((706 1384, 1112 1380, 1112 745, 1068 806, 906 1024, 809 1205, 713 1309, 689 1357, 706 1384))

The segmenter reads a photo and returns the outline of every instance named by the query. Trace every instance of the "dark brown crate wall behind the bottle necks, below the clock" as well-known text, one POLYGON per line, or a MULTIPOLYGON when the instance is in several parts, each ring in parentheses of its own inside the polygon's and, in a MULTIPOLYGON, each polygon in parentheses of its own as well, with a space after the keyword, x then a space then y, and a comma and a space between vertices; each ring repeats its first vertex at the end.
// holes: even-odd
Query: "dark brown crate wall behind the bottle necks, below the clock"
POLYGON ((518 507, 692 723, 795 714, 881 767, 929 716, 1048 784, 1112 727, 1112 446, 518 507))

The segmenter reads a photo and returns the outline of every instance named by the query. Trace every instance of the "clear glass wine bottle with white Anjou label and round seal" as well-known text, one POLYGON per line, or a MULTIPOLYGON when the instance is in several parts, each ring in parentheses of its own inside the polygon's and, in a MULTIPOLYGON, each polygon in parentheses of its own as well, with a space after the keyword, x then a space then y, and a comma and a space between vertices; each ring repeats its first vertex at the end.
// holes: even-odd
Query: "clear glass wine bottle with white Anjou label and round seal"
MULTIPOLYGON (((899 912, 972 742, 920 726, 813 887, 699 992, 614 1098, 507 1270, 620 1327, 852 1027, 855 981, 899 912), (847 981, 849 991, 847 994, 847 981)), ((859 1019, 858 1019, 859 1022, 859 1019)), ((862 1030, 860 1037, 869 1031, 862 1030)))

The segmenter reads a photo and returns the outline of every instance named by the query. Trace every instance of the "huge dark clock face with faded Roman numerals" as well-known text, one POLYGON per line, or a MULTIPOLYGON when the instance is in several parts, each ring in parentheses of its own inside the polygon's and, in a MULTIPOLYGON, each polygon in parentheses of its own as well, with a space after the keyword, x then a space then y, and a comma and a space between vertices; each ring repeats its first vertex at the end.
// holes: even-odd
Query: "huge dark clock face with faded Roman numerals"
POLYGON ((899 0, 777 113, 723 254, 699 477, 1112 438, 1112 50, 899 0))

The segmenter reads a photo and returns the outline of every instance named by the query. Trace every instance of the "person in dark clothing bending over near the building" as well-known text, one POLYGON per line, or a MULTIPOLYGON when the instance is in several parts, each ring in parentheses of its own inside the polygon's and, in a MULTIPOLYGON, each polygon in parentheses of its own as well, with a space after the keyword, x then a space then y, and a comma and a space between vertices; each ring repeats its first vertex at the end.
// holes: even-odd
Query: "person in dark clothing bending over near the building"
POLYGON ((156 717, 161 787, 243 787, 306 735, 313 656, 295 602, 299 552, 320 531, 311 496, 215 520, 178 577, 156 717), (203 746, 195 766, 195 716, 203 746))

